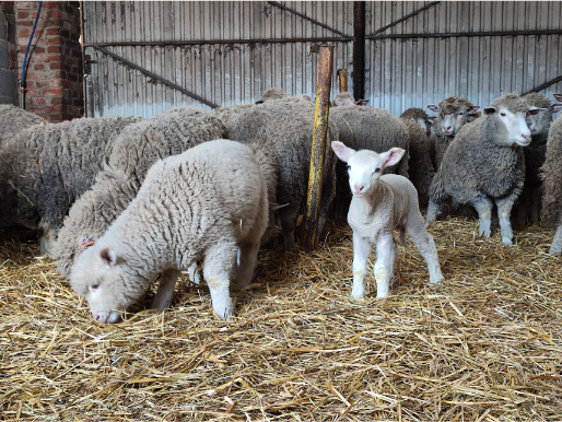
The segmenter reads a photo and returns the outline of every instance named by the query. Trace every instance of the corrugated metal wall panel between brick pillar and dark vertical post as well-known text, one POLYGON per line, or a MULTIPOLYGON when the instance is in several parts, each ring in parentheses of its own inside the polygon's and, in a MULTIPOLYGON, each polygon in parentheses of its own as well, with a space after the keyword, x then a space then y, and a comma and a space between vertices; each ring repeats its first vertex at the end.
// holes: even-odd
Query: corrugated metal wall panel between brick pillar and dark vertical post
POLYGON ((352 62, 352 2, 96 1, 82 7, 85 54, 94 61, 86 78, 90 116, 148 117, 178 105, 210 108, 91 43, 108 43, 104 48, 112 54, 218 106, 255 102, 272 86, 314 96, 317 57, 307 54, 311 43, 280 39, 347 36, 333 43, 335 67, 352 62))

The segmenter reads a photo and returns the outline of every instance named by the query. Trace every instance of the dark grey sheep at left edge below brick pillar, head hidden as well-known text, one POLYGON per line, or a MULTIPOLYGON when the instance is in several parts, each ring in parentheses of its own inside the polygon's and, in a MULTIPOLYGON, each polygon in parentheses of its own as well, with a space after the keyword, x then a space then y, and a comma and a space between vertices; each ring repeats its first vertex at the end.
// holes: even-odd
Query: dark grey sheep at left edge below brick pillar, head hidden
POLYGON ((22 130, 0 152, 0 224, 42 230, 47 253, 70 206, 94 183, 137 117, 79 118, 22 130))

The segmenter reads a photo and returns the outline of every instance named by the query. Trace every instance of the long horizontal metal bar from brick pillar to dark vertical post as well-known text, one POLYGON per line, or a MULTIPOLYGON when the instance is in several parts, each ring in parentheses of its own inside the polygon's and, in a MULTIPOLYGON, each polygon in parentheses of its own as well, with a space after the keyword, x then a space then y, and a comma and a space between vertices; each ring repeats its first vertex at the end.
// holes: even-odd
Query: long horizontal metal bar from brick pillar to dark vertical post
POLYGON ((351 43, 353 37, 314 37, 314 38, 261 38, 261 39, 195 39, 167 42, 116 42, 84 43, 84 47, 183 47, 213 44, 276 44, 276 43, 351 43))

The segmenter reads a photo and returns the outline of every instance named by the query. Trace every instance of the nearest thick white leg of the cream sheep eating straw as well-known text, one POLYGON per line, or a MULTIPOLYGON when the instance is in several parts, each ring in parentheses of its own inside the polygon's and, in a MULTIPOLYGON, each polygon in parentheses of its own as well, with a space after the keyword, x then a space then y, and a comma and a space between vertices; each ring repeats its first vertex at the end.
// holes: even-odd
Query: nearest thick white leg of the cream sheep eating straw
POLYGON ((203 259, 203 278, 211 292, 211 302, 215 314, 221 319, 234 315, 231 298, 231 274, 236 263, 236 244, 223 241, 209 247, 203 259))

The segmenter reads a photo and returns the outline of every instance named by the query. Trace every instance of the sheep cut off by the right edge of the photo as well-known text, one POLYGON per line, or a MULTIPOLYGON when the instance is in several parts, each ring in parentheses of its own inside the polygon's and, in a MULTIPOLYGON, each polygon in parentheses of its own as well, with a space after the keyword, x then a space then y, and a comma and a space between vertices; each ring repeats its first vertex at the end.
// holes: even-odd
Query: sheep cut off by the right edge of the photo
MULTIPOLYGON (((562 94, 554 94, 562 103, 562 94)), ((543 184, 541 222, 557 226, 550 254, 562 255, 562 117, 550 125, 545 164, 540 168, 543 184)))

